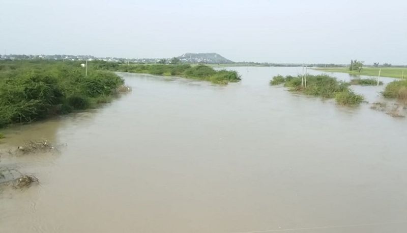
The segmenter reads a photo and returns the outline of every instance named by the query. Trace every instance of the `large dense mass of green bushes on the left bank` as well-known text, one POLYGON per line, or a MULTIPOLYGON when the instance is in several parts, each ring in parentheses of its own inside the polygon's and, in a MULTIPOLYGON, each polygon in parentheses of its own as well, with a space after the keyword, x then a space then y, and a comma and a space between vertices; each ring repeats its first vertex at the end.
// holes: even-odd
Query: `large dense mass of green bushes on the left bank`
POLYGON ((31 122, 108 101, 124 81, 80 62, 1 61, 0 127, 31 122))

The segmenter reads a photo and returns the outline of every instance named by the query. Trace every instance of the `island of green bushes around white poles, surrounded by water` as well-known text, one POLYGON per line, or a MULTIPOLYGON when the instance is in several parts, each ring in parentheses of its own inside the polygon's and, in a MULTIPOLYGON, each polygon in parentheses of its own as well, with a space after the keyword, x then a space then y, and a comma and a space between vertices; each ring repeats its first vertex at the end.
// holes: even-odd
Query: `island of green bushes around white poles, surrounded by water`
POLYGON ((340 105, 358 105, 363 101, 363 96, 355 94, 348 88, 349 84, 339 82, 335 77, 329 75, 307 75, 303 76, 274 76, 271 85, 284 84, 289 91, 300 91, 306 95, 321 96, 324 98, 335 98, 340 105))

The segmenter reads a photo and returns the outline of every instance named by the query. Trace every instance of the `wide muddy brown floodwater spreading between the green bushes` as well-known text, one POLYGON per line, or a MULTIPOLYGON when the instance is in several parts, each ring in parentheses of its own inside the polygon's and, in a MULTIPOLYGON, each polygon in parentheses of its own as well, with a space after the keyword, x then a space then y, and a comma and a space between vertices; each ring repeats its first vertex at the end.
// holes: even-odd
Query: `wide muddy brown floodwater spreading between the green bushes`
POLYGON ((1 158, 40 185, 0 193, 0 232, 407 231, 405 118, 269 85, 299 67, 229 69, 243 80, 121 73, 133 91, 99 109, 6 130, 3 149, 66 146, 1 158))

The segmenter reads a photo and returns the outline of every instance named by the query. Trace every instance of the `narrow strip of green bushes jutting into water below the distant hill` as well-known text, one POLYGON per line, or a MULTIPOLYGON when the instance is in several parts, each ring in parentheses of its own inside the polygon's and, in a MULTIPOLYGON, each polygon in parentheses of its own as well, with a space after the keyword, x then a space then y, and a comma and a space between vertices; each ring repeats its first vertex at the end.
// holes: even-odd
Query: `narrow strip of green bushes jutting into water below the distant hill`
POLYGON ((215 84, 228 84, 229 82, 239 82, 240 75, 236 71, 215 70, 210 66, 189 64, 119 64, 110 62, 95 62, 97 69, 122 71, 130 73, 149 73, 165 76, 182 76, 188 79, 204 80, 215 84))

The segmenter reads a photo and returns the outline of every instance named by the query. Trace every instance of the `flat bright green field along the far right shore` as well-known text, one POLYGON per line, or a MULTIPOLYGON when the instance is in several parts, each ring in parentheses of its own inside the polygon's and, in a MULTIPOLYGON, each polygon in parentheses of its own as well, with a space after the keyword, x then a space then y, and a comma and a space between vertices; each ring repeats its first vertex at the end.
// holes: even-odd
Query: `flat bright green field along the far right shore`
MULTIPOLYGON (((359 72, 349 70, 349 67, 321 67, 313 68, 314 70, 326 71, 326 72, 340 72, 359 75, 359 72)), ((407 76, 407 68, 393 68, 393 67, 363 67, 360 72, 361 75, 377 76, 379 70, 382 69, 380 76, 382 77, 398 77, 401 78, 402 71, 404 70, 404 78, 407 76)))

